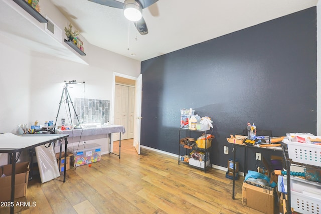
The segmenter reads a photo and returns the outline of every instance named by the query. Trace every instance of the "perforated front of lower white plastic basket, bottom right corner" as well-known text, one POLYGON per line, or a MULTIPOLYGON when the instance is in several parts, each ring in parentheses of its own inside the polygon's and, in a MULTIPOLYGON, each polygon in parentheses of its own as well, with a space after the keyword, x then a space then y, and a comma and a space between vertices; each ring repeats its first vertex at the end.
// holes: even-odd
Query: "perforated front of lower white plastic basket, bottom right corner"
POLYGON ((291 191, 291 207, 300 213, 321 213, 321 199, 307 193, 291 191))

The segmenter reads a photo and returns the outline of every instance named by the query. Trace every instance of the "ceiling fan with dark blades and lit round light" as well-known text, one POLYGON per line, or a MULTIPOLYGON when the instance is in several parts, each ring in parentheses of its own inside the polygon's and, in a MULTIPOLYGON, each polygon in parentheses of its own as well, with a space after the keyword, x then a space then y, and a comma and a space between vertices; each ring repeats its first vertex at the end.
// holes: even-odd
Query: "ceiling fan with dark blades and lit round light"
POLYGON ((119 8, 124 10, 124 16, 133 21, 137 31, 141 35, 148 34, 148 29, 144 18, 142 18, 142 9, 151 6, 158 0, 125 0, 124 3, 118 2, 116 0, 88 0, 100 5, 119 8))

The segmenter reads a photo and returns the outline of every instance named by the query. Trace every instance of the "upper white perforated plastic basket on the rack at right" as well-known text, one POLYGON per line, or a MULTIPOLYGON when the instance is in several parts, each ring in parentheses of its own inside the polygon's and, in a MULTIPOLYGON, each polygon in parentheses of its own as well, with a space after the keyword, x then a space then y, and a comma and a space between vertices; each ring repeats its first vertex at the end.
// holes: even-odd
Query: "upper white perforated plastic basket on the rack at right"
POLYGON ((321 145, 284 141, 289 158, 297 163, 321 166, 321 145))

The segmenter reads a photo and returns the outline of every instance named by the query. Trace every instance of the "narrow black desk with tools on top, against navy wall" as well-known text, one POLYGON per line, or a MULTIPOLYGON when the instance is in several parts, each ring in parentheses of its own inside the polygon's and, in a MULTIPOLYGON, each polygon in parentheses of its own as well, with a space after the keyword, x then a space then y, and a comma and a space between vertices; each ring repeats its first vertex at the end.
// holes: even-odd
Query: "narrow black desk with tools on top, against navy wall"
POLYGON ((257 147, 257 146, 248 146, 245 144, 236 144, 233 143, 233 191, 232 191, 232 198, 235 199, 235 156, 236 156, 236 147, 241 147, 245 149, 244 152, 244 177, 245 174, 247 172, 247 158, 246 158, 246 150, 247 149, 261 149, 262 152, 264 152, 264 150, 272 150, 272 151, 279 151, 282 154, 282 147, 257 147), (279 148, 279 149, 278 149, 279 148))

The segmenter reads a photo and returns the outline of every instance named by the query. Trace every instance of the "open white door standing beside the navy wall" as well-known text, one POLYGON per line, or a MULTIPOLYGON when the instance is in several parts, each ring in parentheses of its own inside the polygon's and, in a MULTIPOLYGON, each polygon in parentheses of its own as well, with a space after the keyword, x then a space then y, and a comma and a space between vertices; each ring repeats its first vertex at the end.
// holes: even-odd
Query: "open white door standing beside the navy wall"
POLYGON ((142 74, 136 80, 135 88, 135 114, 134 114, 134 147, 138 154, 140 154, 140 120, 141 116, 141 78, 142 74))

